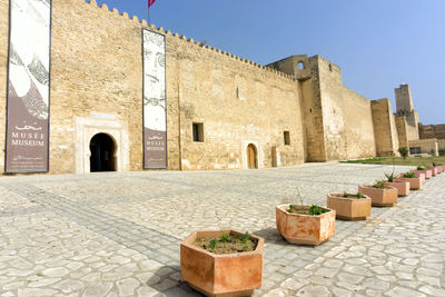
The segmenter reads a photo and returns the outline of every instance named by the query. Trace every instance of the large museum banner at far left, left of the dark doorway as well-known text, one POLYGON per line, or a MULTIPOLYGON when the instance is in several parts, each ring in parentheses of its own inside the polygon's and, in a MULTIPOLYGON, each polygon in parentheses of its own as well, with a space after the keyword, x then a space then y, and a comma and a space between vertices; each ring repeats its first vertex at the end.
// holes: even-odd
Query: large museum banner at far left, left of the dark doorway
POLYGON ((51 0, 10 0, 6 172, 47 172, 51 0))

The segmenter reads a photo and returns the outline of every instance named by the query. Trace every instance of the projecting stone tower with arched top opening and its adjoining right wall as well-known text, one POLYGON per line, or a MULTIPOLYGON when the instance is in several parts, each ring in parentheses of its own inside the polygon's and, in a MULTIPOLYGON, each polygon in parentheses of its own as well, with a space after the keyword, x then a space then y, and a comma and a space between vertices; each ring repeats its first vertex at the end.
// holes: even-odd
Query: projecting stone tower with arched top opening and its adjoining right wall
POLYGON ((370 101, 343 85, 339 67, 319 56, 293 56, 269 67, 299 81, 307 161, 375 156, 370 101))

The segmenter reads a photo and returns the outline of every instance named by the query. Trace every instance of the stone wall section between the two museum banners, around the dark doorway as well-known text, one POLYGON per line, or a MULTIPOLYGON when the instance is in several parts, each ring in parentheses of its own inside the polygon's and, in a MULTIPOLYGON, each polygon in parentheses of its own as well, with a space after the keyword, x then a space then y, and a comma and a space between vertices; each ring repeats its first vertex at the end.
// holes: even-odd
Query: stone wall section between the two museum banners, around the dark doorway
MULTIPOLYGON (((109 132, 115 140, 129 136, 118 146, 128 158, 120 169, 142 168, 141 28, 137 19, 96 1, 52 1, 50 172, 76 172, 82 127, 100 132, 107 120, 121 127, 118 136, 109 132), (76 125, 79 119, 82 127, 76 125)), ((169 141, 169 148, 176 143, 169 141)))

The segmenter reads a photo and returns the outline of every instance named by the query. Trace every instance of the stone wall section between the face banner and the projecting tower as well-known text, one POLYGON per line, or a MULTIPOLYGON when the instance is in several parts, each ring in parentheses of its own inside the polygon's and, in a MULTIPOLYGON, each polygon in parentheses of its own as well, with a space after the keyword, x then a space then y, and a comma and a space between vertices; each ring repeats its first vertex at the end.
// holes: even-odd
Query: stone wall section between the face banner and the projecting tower
MULTIPOLYGON (((304 138, 297 83, 286 75, 206 48, 192 40, 167 38, 175 60, 180 105, 181 169, 246 168, 246 149, 258 150, 258 166, 271 167, 273 147, 283 166, 304 162, 304 138), (204 142, 192 139, 202 123, 204 142), (289 131, 290 145, 284 145, 289 131)), ((168 66, 167 66, 168 67, 168 66)), ((170 95, 169 95, 170 96, 170 95)))

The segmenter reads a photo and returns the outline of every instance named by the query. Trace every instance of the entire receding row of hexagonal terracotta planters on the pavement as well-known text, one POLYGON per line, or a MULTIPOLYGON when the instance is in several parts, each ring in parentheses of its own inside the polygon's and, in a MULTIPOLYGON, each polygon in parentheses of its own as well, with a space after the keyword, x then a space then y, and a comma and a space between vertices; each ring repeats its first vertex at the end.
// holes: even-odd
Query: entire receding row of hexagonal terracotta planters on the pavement
MULTIPOLYGON (((372 206, 392 207, 397 197, 418 190, 445 166, 418 167, 374 185, 362 185, 357 194, 329 194, 327 207, 280 205, 276 208, 278 231, 290 244, 318 246, 335 234, 335 220, 364 220, 372 206)), ((300 197, 298 195, 298 197, 300 197)), ((261 287, 264 239, 231 229, 196 231, 180 246, 180 275, 206 296, 250 296, 261 287)))

